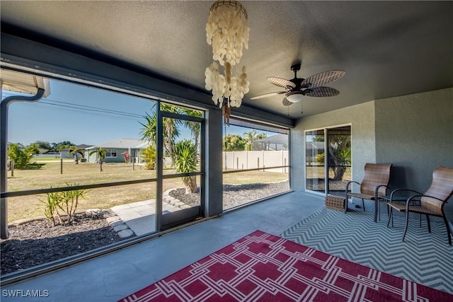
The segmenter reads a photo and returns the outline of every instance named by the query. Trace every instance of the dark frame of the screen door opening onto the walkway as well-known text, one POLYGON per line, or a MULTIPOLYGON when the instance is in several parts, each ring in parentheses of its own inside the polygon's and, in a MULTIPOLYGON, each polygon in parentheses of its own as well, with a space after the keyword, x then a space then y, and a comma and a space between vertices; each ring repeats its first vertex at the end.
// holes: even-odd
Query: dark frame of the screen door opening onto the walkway
MULTIPOLYGON (((156 182, 156 231, 164 231, 168 228, 181 225, 195 219, 202 218, 205 208, 205 117, 192 117, 190 115, 180 115, 173 112, 166 112, 161 110, 161 101, 157 105, 157 137, 156 137, 156 169, 157 169, 157 182, 156 182), (184 120, 188 122, 200 123, 200 171, 190 173, 178 173, 171 175, 164 175, 164 117, 175 120, 184 120), (188 209, 180 209, 176 212, 163 214, 164 202, 164 179, 169 178, 182 178, 185 176, 200 175, 200 206, 190 207, 188 209)), ((176 104, 170 104, 179 106, 176 104)), ((185 107, 185 106, 182 106, 185 107)), ((203 111, 201 109, 198 109, 203 111)))

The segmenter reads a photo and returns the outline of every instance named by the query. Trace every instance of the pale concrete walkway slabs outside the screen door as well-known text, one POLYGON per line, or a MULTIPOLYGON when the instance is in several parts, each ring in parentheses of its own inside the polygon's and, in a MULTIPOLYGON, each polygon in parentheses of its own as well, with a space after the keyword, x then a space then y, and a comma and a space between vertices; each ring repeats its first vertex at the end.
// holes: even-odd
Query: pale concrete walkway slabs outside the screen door
MULTIPOLYGON (((162 204, 164 214, 178 211, 179 207, 164 202, 162 204)), ((132 202, 112 207, 112 211, 118 219, 112 217, 110 225, 117 231, 120 237, 132 236, 129 228, 136 236, 156 231, 156 200, 149 199, 144 202, 132 202), (125 224, 126 226, 122 225, 125 224), (128 236, 127 236, 128 235, 128 236)))

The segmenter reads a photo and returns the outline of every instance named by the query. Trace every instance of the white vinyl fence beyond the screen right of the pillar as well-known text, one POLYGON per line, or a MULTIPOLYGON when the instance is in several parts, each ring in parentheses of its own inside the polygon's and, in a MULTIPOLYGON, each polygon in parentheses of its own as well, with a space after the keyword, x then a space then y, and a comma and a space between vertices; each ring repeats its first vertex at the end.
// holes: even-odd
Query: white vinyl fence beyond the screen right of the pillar
MULTIPOLYGON (((225 170, 246 170, 289 165, 288 151, 226 151, 223 152, 225 170)), ((288 173, 289 169, 275 168, 268 172, 288 173)))

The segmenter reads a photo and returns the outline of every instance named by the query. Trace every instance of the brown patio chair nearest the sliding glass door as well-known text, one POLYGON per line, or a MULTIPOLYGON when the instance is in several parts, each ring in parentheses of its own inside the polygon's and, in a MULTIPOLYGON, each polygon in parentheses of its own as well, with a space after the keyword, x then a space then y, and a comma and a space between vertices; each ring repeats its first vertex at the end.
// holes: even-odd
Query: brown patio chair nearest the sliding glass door
MULTIPOLYGON (((377 213, 379 210, 379 196, 384 196, 389 188, 391 163, 367 163, 365 164, 365 175, 362 182, 354 180, 346 184, 346 206, 345 213, 348 211, 348 198, 355 197, 362 199, 363 211, 365 211, 364 200, 374 201, 374 222, 377 221, 377 213), (360 192, 352 191, 351 185, 356 183, 360 185, 360 192), (351 187, 351 188, 350 188, 351 187)), ((380 211, 379 211, 380 219, 380 211)))

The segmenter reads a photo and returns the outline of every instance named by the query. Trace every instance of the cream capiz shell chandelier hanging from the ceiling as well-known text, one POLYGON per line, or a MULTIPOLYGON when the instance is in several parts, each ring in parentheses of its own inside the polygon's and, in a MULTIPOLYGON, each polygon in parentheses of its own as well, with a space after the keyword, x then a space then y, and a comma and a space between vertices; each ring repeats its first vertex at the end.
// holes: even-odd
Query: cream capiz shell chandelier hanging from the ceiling
POLYGON ((248 93, 250 86, 246 66, 237 67, 243 47, 248 49, 247 18, 246 8, 238 1, 216 1, 206 23, 206 42, 212 45, 214 59, 205 71, 206 89, 212 91, 212 101, 222 108, 227 124, 230 107, 241 106, 243 95, 248 93), (224 67, 224 74, 219 71, 219 65, 224 67), (233 68, 236 75, 233 75, 233 68))

